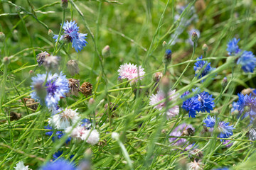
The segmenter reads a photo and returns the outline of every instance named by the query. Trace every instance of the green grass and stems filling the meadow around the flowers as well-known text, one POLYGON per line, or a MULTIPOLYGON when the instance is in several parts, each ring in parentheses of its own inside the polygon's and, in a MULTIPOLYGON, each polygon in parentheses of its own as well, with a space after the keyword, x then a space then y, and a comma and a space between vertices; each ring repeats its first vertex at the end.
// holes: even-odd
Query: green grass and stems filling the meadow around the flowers
MULTIPOLYGON (((249 0, 247 0, 249 1, 249 0)), ((182 147, 171 145, 169 134, 181 123, 193 125, 195 133, 184 137, 196 143, 203 150, 204 169, 227 166, 230 169, 256 169, 255 142, 247 137, 248 120, 238 120, 230 113, 230 104, 237 101, 237 94, 248 87, 255 88, 256 74, 242 72, 234 61, 227 60, 226 44, 233 37, 240 38, 239 46, 256 54, 256 13, 255 1, 247 5, 245 1, 206 0, 206 1, 75 1, 70 0, 65 10, 65 21, 75 20, 80 33, 87 33, 88 45, 81 52, 75 52, 71 45, 65 45, 58 52, 48 29, 55 34, 60 31, 63 10, 60 1, 16 0, 0 1, 0 31, 6 35, 0 42, 1 60, 9 57, 10 64, 1 62, 1 110, 0 110, 0 167, 14 169, 23 160, 31 169, 53 159, 53 154, 63 149, 61 157, 68 159, 74 155, 75 164, 89 159, 93 169, 183 169, 191 162, 182 147), (180 20, 176 6, 188 5, 180 20), (16 6, 21 13, 16 12, 16 6), (198 22, 191 23, 178 38, 175 45, 162 46, 177 33, 179 21, 190 16, 189 10, 195 6, 198 22), (186 42, 190 28, 201 31, 197 46, 186 42), (208 62, 215 71, 201 83, 195 79, 193 64, 203 55, 202 46, 207 44, 208 62), (111 55, 103 57, 102 48, 110 45, 111 55), (221 120, 235 125, 230 137, 233 146, 226 148, 215 135, 201 134, 203 119, 209 113, 198 113, 196 118, 188 118, 188 113, 180 108, 178 116, 166 120, 153 106, 149 106, 149 96, 153 93, 152 75, 164 72, 163 57, 166 49, 171 49, 172 61, 167 67, 171 88, 178 94, 196 87, 208 91, 215 98, 216 115, 221 120), (64 145, 65 136, 58 142, 45 135, 51 113, 43 106, 36 111, 23 103, 24 97, 31 94, 31 77, 46 73, 38 67, 36 55, 42 51, 61 57, 59 70, 71 78, 66 62, 78 60, 80 73, 75 79, 89 81, 92 96, 82 94, 73 98, 63 98, 63 108, 78 108, 82 118, 90 118, 100 132, 100 143, 95 146, 85 141, 75 141, 64 145), (146 72, 144 79, 137 84, 143 86, 142 93, 134 93, 134 87, 127 81, 120 83, 117 69, 124 63, 142 65, 146 72), (34 70, 33 74, 29 74, 34 70), (217 74, 217 76, 215 76, 217 74), (228 85, 222 89, 223 77, 228 85), (149 88, 145 88, 149 87, 149 88), (94 98, 95 103, 88 103, 94 98), (106 103, 116 103, 117 110, 105 109, 106 103), (21 113, 19 120, 11 121, 11 112, 21 113), (113 140, 112 132, 119 133, 119 140, 113 140), (91 154, 88 154, 91 149, 91 154), (87 152, 86 152, 87 151, 87 152), (85 153, 86 152, 86 153, 85 153), (233 166, 234 165, 234 166, 233 166)), ((58 44, 60 47, 60 44, 58 44)), ((178 99, 169 103, 181 106, 178 99)))

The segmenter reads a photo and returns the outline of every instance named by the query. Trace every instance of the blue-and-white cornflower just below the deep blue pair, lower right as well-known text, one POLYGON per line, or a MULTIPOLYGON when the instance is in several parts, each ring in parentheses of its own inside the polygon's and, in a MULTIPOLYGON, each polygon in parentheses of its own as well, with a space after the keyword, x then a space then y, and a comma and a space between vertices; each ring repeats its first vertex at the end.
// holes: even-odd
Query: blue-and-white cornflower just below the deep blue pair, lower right
MULTIPOLYGON (((203 123, 206 123, 205 126, 208 128, 214 128, 215 123, 216 123, 216 118, 211 117, 208 115, 208 117, 203 120, 203 123)), ((233 135, 233 126, 234 125, 229 125, 229 123, 226 123, 224 121, 218 122, 218 131, 219 135, 218 137, 220 138, 228 138, 233 135)), ((220 140, 223 141, 223 140, 220 140)))

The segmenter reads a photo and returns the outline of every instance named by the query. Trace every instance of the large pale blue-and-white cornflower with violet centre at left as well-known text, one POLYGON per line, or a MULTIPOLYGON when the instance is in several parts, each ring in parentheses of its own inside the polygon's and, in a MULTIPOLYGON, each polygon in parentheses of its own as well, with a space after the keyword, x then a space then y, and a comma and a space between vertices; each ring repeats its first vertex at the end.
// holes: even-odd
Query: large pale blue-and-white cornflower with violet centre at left
POLYGON ((60 97, 65 97, 65 93, 68 93, 68 79, 62 72, 60 74, 48 73, 47 81, 46 74, 37 74, 36 77, 32 77, 32 90, 36 89, 31 93, 31 98, 39 101, 41 104, 46 104, 46 106, 51 110, 56 108, 60 97), (46 81, 46 83, 45 83, 46 81), (43 84, 45 84, 43 86, 43 84), (42 95, 45 89, 45 95, 42 95), (43 96, 43 98, 42 98, 43 96))

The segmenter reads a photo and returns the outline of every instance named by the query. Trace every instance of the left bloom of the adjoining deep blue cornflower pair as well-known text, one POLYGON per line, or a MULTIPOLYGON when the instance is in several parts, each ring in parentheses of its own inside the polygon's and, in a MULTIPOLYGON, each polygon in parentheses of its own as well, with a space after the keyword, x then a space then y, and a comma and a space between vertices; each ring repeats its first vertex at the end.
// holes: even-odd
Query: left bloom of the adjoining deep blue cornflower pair
MULTIPOLYGON (((189 91, 186 91, 181 98, 186 99, 186 96, 188 96, 189 91)), ((198 101, 197 96, 193 96, 191 98, 187 98, 186 101, 183 101, 183 104, 181 106, 185 111, 188 111, 188 115, 191 118, 196 118, 196 112, 199 112, 201 110, 201 102, 198 101)))

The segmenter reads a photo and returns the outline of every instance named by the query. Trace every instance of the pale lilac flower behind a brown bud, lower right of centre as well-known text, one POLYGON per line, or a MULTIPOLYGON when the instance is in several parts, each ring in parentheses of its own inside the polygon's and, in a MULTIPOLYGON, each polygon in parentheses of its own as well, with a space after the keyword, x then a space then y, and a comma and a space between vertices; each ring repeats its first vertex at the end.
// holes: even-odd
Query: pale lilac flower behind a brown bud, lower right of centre
MULTIPOLYGON (((170 136, 174 136, 174 137, 170 137, 169 142, 173 143, 173 145, 176 145, 176 146, 186 146, 186 145, 188 145, 188 140, 186 140, 185 138, 177 138, 177 137, 181 137, 182 134, 183 134, 183 131, 188 130, 188 128, 191 128, 193 130, 193 127, 191 125, 186 125, 186 123, 178 125, 170 133, 170 136)), ((188 150, 188 149, 191 149, 191 147, 193 147, 193 145, 188 145, 185 149, 188 150)))

